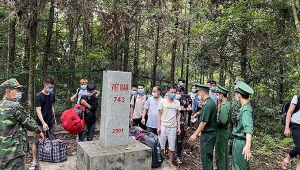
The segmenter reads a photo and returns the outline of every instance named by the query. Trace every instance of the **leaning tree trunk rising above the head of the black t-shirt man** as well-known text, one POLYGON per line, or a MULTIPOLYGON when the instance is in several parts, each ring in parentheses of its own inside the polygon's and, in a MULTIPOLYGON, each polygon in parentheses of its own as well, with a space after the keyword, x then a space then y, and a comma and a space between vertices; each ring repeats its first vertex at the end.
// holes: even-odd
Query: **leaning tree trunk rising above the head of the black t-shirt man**
POLYGON ((53 29, 53 21, 54 21, 54 2, 55 0, 50 1, 50 10, 49 10, 49 17, 48 17, 48 25, 47 25, 47 33, 46 33, 46 41, 44 45, 44 54, 41 58, 41 75, 40 75, 40 88, 43 86, 43 80, 46 78, 47 75, 47 65, 48 65, 48 58, 50 53, 51 47, 51 36, 52 36, 52 29, 53 29))

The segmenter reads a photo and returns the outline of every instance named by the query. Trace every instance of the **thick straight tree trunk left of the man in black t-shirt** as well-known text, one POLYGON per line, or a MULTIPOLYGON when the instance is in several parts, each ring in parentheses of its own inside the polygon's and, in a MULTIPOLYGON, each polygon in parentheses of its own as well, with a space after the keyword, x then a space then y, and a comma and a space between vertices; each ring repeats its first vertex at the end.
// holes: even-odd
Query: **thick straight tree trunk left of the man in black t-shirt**
POLYGON ((31 12, 29 16, 29 83, 28 83, 28 111, 34 116, 34 75, 36 60, 36 32, 37 32, 37 0, 31 0, 31 12))

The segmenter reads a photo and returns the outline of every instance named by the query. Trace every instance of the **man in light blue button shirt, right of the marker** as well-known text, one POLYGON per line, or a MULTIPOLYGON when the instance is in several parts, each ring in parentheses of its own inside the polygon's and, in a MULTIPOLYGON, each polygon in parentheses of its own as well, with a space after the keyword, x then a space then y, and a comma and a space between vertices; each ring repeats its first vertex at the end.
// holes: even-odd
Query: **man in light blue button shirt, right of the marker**
POLYGON ((146 123, 147 131, 150 131, 157 135, 157 115, 158 115, 158 104, 162 97, 160 94, 160 87, 154 86, 152 88, 152 97, 149 97, 145 104, 142 112, 141 123, 145 124, 145 116, 148 111, 148 120, 146 123))

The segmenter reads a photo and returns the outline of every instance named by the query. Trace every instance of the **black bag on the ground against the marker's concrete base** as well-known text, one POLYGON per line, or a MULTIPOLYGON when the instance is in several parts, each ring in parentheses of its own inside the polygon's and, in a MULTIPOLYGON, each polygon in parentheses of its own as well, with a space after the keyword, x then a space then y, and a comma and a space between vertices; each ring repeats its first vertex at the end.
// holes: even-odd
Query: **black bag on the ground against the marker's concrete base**
MULTIPOLYGON (((144 133, 145 131, 141 131, 144 133)), ((147 135, 140 137, 140 142, 152 148, 152 167, 158 167, 162 162, 161 147, 158 136, 152 132, 147 132, 147 135)))

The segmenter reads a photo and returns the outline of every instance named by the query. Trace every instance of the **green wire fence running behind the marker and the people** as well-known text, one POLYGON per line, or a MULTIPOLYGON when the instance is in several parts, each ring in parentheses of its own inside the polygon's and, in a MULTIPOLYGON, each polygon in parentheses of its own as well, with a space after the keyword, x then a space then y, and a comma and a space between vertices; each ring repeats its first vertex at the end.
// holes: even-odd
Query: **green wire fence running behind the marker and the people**
MULTIPOLYGON (((41 79, 41 72, 35 72, 34 78, 34 96, 42 90, 43 79, 41 79)), ((94 83, 96 89, 102 93, 102 70, 79 70, 79 71, 47 71, 46 77, 52 77, 55 80, 55 87, 53 92, 55 93, 55 113, 61 113, 62 111, 71 108, 75 102, 70 101, 70 97, 76 93, 77 88, 80 87, 79 80, 85 78, 90 83, 94 83)), ((22 87, 22 98, 20 103, 28 110, 28 72, 20 74, 5 76, 0 78, 0 84, 9 78, 15 78, 19 84, 25 85, 22 87)), ((156 85, 159 85, 161 92, 166 90, 169 82, 164 77, 157 77, 155 79, 156 85)), ((150 87, 151 78, 144 75, 132 74, 132 83, 143 83, 145 84, 145 90, 152 89, 150 87)), ((101 93, 99 95, 99 105, 101 107, 101 93)), ((130 95, 130 93, 128 93, 130 95)), ((2 93, 0 94, 2 98, 2 93)))

